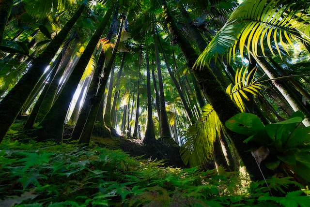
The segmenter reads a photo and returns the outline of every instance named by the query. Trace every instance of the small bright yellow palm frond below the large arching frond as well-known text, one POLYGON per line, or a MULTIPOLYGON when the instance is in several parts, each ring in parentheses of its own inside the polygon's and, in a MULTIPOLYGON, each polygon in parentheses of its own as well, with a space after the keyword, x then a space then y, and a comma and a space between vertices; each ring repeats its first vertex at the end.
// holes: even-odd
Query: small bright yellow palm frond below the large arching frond
POLYGON ((260 90, 264 87, 258 83, 255 79, 257 68, 252 69, 248 73, 248 67, 242 67, 240 70, 237 69, 234 79, 234 85, 230 84, 226 88, 231 99, 237 104, 242 112, 246 111, 243 99, 249 100, 246 92, 256 95, 261 95, 260 90))

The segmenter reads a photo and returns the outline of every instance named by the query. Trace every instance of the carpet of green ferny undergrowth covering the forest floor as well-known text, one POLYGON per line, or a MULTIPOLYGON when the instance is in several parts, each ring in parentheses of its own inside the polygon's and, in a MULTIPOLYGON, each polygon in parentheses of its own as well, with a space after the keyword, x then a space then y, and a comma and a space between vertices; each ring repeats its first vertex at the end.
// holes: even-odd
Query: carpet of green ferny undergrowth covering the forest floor
MULTIPOLYGON (((305 191, 272 197, 263 181, 247 182, 222 168, 172 168, 121 150, 51 142, 0 145, 1 207, 306 206, 305 191)), ((270 178, 285 192, 289 178, 270 178)))

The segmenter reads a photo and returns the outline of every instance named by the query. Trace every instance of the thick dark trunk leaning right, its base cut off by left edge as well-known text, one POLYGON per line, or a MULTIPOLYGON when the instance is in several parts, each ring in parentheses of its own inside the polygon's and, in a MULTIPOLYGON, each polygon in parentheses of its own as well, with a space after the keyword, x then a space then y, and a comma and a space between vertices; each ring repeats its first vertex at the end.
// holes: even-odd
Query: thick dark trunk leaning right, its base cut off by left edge
POLYGON ((57 53, 78 17, 82 14, 85 6, 86 3, 83 3, 79 7, 75 15, 72 16, 62 30, 48 44, 44 52, 32 62, 28 72, 22 76, 15 87, 2 99, 0 103, 0 141, 2 141, 5 133, 9 130, 32 89, 57 53))

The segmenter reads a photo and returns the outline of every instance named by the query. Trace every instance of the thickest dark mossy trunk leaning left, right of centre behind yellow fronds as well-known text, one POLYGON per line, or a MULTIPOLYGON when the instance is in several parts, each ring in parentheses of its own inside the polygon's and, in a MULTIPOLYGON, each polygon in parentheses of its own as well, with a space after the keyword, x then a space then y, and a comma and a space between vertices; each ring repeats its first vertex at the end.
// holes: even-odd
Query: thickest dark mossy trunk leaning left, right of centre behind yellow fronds
MULTIPOLYGON (((177 28, 165 0, 161 0, 161 3, 165 15, 165 20, 172 36, 172 42, 179 45, 187 60, 188 66, 193 68, 195 61, 198 59, 198 55, 186 40, 186 38, 181 34, 180 30, 177 28)), ((193 74, 195 75, 202 91, 207 96, 208 101, 212 104, 214 110, 217 112, 218 118, 222 123, 225 123, 226 120, 233 117, 235 114, 240 113, 239 108, 221 87, 217 77, 213 74, 209 67, 204 66, 201 70, 193 70, 193 74)), ((233 133, 232 131, 228 131, 228 135, 231 137, 234 145, 236 146, 236 149, 248 172, 253 175, 253 179, 261 179, 262 175, 258 169, 258 166, 248 152, 249 147, 246 143, 243 142, 243 140, 246 139, 246 136, 233 133)))

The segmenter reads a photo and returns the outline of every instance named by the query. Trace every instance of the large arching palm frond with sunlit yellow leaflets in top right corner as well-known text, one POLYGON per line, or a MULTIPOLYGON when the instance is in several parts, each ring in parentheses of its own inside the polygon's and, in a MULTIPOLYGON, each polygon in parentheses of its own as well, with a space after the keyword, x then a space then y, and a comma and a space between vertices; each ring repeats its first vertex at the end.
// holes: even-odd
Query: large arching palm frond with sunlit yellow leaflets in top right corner
POLYGON ((213 57, 227 53, 234 57, 237 46, 243 58, 245 48, 254 56, 260 53, 265 55, 266 49, 273 55, 281 55, 279 45, 288 51, 288 45, 293 45, 292 40, 309 41, 310 38, 304 32, 296 30, 304 24, 303 21, 297 21, 300 16, 296 14, 303 11, 298 8, 295 2, 283 0, 245 0, 217 32, 196 65, 201 67, 213 57))

